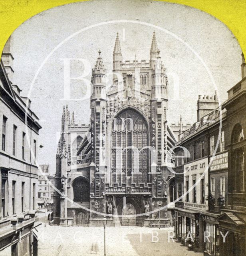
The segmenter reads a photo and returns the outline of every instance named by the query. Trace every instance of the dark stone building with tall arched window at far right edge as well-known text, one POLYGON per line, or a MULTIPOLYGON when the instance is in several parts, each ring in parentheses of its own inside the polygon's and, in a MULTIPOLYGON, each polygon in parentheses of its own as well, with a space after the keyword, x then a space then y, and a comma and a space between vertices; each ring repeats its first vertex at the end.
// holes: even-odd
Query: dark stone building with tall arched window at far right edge
POLYGON ((228 138, 228 202, 217 218, 220 252, 226 256, 242 256, 246 253, 246 66, 242 55, 242 80, 228 90, 228 100, 222 104, 227 111, 228 138))

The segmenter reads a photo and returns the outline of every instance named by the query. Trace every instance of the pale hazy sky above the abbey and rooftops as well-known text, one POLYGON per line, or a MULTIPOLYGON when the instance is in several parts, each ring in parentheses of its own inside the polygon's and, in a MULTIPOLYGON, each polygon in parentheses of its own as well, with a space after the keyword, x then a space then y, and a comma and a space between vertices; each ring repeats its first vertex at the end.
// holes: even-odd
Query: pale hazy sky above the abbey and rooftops
MULTIPOLYGON (((135 60, 135 55, 137 60, 149 60, 154 30, 169 80, 168 124, 177 123, 180 115, 184 123, 196 122, 198 95, 213 95, 217 90, 223 102, 227 98, 226 91, 241 78, 242 51, 238 41, 222 22, 210 14, 165 2, 95 0, 44 11, 13 32, 12 82, 21 88, 23 96, 29 95, 32 110, 43 127, 39 144, 44 147, 39 148, 39 164, 50 164, 50 172, 56 171, 63 105, 67 104, 70 112, 75 112, 75 123, 89 123, 89 99, 64 100, 63 59, 85 59, 91 70, 100 49, 105 67, 110 72, 115 37, 119 32, 123 60, 135 60), (131 23, 102 24, 78 32, 113 20, 130 20, 131 23), (40 72, 34 80, 38 70, 40 72)), ((84 72, 82 62, 72 61, 70 71, 71 77, 81 76, 84 72)), ((90 76, 91 73, 85 78, 90 80, 90 76)), ((71 98, 81 99, 84 92, 83 81, 71 82, 71 98)))

